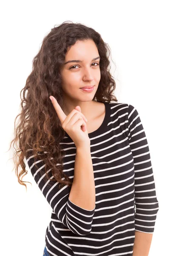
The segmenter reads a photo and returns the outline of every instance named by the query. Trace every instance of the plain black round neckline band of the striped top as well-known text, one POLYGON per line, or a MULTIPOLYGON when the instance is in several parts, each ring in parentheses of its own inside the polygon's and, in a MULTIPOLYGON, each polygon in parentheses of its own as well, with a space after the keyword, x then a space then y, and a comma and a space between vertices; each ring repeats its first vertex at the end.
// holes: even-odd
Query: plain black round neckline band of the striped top
MULTIPOLYGON (((99 102, 101 102, 101 101, 99 101, 99 102)), ((92 132, 88 133, 89 138, 92 138, 94 136, 101 134, 101 132, 104 131, 105 126, 108 125, 108 121, 109 121, 110 115, 111 115, 111 108, 110 108, 109 102, 102 102, 102 103, 105 104, 105 117, 103 119, 102 124, 99 126, 99 128, 96 131, 92 131, 92 132)), ((65 136, 71 139, 71 137, 66 133, 66 131, 65 131, 65 136)))

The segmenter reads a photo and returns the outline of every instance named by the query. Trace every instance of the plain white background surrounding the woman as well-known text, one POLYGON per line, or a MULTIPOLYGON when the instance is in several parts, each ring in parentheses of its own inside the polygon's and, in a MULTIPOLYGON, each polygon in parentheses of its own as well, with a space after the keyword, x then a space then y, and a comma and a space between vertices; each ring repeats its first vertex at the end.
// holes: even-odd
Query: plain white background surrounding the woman
MULTIPOLYGON (((119 102, 139 112, 159 201, 149 256, 169 253, 170 204, 170 8, 169 1, 5 1, 1 5, 1 186, 0 255, 42 256, 51 207, 30 172, 17 181, 13 150, 14 119, 20 91, 44 36, 71 20, 99 32, 111 48, 111 73, 119 102), (116 66, 115 66, 116 65, 116 66), (6 152, 8 151, 8 152, 6 152)), ((28 165, 26 165, 26 170, 28 165)), ((19 169, 20 171, 21 169, 19 169)))

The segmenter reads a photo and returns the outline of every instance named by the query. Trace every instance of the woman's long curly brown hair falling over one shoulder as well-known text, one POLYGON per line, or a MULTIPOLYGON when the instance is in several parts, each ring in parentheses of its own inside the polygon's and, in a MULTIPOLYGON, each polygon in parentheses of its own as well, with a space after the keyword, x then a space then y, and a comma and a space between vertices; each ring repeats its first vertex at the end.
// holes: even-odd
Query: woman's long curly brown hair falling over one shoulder
MULTIPOLYGON (((102 40, 101 35, 81 23, 65 21, 59 26, 54 26, 43 39, 40 51, 32 61, 32 71, 26 79, 26 85, 20 92, 21 112, 15 118, 15 137, 11 144, 17 146, 17 141, 19 141, 17 149, 14 146, 13 160, 14 167, 16 167, 15 173, 21 185, 26 186, 24 182, 28 182, 22 180, 28 172, 24 157, 27 159, 33 154, 34 163, 37 160, 43 160, 45 169, 40 172, 44 174, 45 171, 46 180, 50 178, 47 172, 50 168, 54 176, 54 179, 51 180, 57 180, 60 183, 59 189, 63 185, 72 185, 72 180, 62 172, 65 151, 62 150, 60 142, 65 137, 65 131, 55 109, 51 108, 49 96, 54 96, 63 109, 61 68, 65 62, 65 55, 77 41, 87 39, 94 41, 100 56, 101 79, 93 100, 118 101, 113 95, 116 83, 110 73, 110 47, 102 40), (21 97, 22 91, 23 98, 21 97), (20 116, 20 120, 16 127, 18 116, 20 116), (19 165, 22 167, 22 171, 18 174, 19 165), (23 177, 21 177, 22 175, 23 177)), ((35 166, 37 165, 35 164, 35 166)))

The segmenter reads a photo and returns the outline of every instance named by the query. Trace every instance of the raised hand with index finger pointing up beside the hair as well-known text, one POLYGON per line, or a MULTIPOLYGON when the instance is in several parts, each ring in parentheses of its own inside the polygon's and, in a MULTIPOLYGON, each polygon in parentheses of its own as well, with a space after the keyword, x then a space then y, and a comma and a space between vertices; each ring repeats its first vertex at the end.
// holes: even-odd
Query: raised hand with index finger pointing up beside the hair
POLYGON ((66 116, 57 100, 53 96, 50 96, 50 98, 52 99, 52 104, 62 124, 62 128, 74 141, 76 147, 90 145, 85 116, 76 109, 73 109, 68 116, 66 116))

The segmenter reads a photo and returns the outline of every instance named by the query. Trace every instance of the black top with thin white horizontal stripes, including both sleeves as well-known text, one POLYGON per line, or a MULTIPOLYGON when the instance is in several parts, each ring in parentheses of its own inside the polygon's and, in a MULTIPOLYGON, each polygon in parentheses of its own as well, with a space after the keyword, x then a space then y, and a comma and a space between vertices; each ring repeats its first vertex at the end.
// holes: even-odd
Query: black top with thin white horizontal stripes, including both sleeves
MULTIPOLYGON (((135 230, 154 232, 159 204, 139 113, 127 103, 104 103, 102 125, 88 134, 96 189, 93 210, 72 203, 69 186, 59 190, 57 181, 47 186, 45 175, 40 175, 42 161, 35 169, 34 155, 27 159, 34 180, 53 209, 45 232, 51 256, 129 256, 135 230)), ((63 172, 73 179, 76 147, 67 133, 62 146, 66 151, 63 172)))

